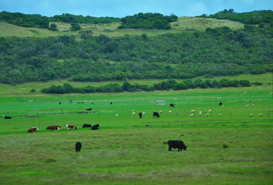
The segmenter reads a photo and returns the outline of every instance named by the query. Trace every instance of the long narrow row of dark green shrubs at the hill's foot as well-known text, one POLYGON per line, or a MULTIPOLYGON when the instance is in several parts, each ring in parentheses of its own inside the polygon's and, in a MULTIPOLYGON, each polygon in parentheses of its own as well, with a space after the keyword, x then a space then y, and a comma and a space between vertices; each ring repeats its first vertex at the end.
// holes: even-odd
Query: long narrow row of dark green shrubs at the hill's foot
MULTIPOLYGON (((262 83, 253 83, 255 85, 262 85, 262 83)), ((107 85, 93 87, 73 87, 70 83, 64 83, 62 85, 52 85, 49 88, 41 89, 42 93, 119 93, 119 92, 133 92, 133 91, 153 91, 153 90, 186 90, 189 88, 221 88, 221 87, 249 87, 251 86, 248 80, 228 80, 222 79, 217 80, 201 80, 196 79, 192 81, 191 79, 186 79, 183 82, 176 82, 174 79, 169 79, 168 81, 162 81, 155 83, 153 86, 141 85, 139 83, 130 84, 129 82, 124 82, 122 86, 117 83, 109 83, 107 85)))

